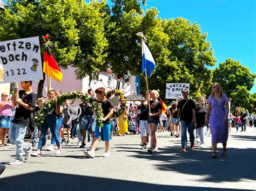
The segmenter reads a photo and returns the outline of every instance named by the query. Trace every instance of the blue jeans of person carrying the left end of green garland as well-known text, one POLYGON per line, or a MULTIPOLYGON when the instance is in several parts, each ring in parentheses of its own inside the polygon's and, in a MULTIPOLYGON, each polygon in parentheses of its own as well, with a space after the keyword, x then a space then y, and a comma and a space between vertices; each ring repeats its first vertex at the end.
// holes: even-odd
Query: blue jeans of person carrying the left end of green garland
POLYGON ((56 115, 46 116, 45 122, 41 124, 41 135, 38 143, 38 150, 42 150, 43 144, 45 142, 46 132, 50 128, 52 138, 55 140, 56 145, 60 147, 59 136, 56 133, 58 127, 58 119, 56 115))

